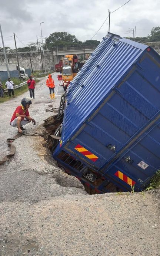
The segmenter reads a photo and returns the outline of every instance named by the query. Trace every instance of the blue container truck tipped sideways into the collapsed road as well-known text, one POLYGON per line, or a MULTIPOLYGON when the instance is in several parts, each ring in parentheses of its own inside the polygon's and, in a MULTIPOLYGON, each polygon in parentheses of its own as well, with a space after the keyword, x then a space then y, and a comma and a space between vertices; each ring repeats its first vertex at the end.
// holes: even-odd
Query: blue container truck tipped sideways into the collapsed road
POLYGON ((53 157, 96 193, 146 187, 160 169, 160 56, 151 47, 103 38, 68 88, 53 157))

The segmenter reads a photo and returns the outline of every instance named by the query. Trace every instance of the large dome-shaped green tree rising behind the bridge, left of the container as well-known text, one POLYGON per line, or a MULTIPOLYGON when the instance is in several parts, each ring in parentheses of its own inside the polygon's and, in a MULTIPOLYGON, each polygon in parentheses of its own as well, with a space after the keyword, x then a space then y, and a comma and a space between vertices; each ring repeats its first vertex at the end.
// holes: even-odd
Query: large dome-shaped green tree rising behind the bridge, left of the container
POLYGON ((67 32, 54 32, 46 38, 46 48, 51 49, 58 47, 73 46, 83 44, 79 41, 76 36, 71 35, 67 32))

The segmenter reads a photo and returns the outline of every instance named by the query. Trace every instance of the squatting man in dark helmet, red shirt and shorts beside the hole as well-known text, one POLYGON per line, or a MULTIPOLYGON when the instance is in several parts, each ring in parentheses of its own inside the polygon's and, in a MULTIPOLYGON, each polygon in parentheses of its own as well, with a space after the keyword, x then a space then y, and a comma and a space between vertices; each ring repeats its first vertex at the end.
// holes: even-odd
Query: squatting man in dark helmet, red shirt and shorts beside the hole
POLYGON ((17 106, 16 110, 13 113, 10 125, 13 127, 17 127, 18 133, 21 133, 22 130, 25 130, 23 128, 23 125, 26 125, 31 121, 34 125, 36 124, 36 121, 29 115, 28 109, 30 107, 30 104, 32 104, 30 98, 23 98, 21 100, 21 106, 17 106))

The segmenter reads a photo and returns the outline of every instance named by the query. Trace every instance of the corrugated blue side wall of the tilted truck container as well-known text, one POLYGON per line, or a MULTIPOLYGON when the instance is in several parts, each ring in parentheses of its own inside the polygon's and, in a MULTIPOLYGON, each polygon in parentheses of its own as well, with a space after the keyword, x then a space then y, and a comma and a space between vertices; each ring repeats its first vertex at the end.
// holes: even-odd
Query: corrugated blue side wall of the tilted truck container
POLYGON ((69 90, 63 143, 104 101, 114 85, 122 79, 146 48, 146 45, 127 39, 119 39, 116 42, 112 36, 100 43, 95 55, 93 54, 91 60, 84 65, 85 72, 82 70, 83 73, 77 74, 69 90))

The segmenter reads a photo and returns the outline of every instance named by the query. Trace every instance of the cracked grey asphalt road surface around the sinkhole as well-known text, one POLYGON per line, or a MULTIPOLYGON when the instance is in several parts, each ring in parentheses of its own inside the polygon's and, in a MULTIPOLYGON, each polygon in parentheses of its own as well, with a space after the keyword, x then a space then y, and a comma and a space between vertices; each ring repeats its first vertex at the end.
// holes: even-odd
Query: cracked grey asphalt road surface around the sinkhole
MULTIPOLYGON (((59 106, 63 88, 56 79, 50 100, 40 79, 29 111, 43 131, 48 104, 59 106)), ((21 98, 0 104, 0 152, 17 132, 9 121, 21 98)), ((76 178, 57 167, 41 137, 21 137, 16 153, 0 166, 0 256, 160 256, 160 191, 89 196, 76 178)))

